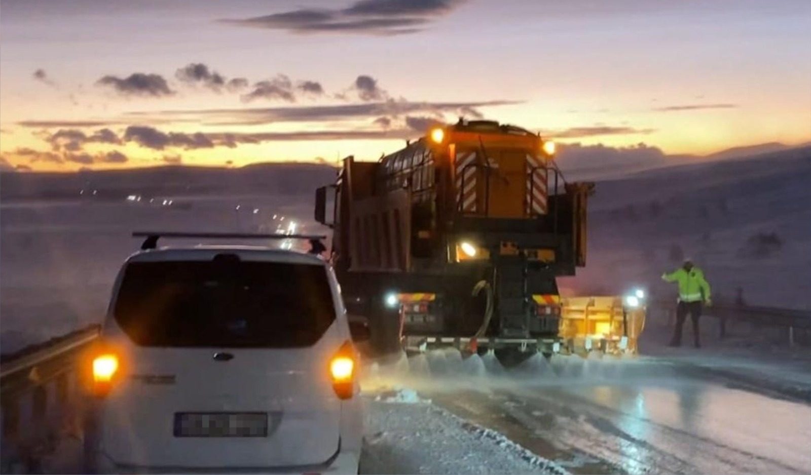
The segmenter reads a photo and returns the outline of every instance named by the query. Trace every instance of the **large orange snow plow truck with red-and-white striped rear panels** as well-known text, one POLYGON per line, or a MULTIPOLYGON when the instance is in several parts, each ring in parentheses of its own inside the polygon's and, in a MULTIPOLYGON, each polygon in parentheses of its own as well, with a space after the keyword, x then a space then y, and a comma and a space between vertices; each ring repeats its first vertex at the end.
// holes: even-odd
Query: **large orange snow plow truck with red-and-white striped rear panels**
POLYGON ((343 160, 315 219, 374 353, 560 351, 556 277, 586 265, 594 183, 564 182, 554 159, 530 131, 460 120, 377 162, 343 160))

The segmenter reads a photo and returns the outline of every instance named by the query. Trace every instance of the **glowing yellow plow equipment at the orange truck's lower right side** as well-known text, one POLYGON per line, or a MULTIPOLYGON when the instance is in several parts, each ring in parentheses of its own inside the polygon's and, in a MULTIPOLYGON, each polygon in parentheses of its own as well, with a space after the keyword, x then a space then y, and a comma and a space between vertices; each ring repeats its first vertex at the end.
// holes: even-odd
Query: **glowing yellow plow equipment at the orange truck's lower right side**
POLYGON ((621 296, 562 297, 561 349, 567 353, 637 354, 645 329, 645 291, 621 296))

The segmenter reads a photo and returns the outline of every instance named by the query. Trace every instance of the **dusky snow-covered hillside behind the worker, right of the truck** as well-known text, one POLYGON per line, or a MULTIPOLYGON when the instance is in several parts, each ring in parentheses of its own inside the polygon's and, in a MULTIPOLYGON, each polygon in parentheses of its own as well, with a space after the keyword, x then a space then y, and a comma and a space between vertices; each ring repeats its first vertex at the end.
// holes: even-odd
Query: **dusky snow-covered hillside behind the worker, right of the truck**
POLYGON ((693 257, 715 300, 811 309, 811 148, 697 163, 599 182, 589 254, 571 293, 674 298, 663 272, 693 257))

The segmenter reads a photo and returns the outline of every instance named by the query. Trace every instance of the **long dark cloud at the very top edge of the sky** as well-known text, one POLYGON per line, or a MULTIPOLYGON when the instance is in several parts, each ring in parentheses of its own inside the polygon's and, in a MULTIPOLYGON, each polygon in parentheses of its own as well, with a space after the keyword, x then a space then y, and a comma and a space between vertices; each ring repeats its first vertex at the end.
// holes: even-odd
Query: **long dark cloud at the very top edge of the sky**
POLYGON ((337 10, 302 8, 224 21, 291 33, 344 32, 392 36, 419 32, 432 19, 447 15, 462 2, 463 0, 360 0, 337 10))

